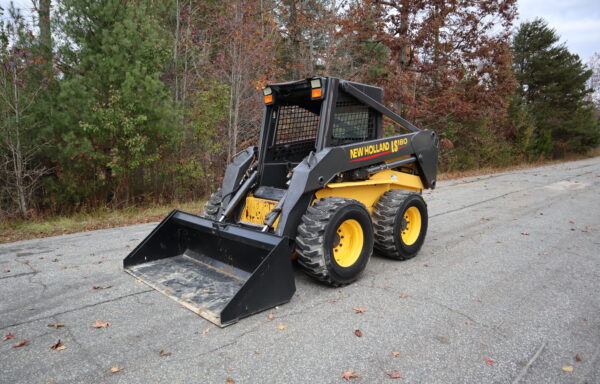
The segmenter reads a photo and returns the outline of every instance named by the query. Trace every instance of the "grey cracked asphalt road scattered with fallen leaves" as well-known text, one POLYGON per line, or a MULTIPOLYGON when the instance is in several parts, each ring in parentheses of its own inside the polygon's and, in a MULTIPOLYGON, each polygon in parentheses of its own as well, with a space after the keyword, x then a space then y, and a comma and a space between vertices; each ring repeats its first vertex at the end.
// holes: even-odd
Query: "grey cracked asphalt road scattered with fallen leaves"
POLYGON ((122 271, 154 224, 0 245, 0 382, 600 383, 600 158, 425 199, 416 258, 341 289, 297 270, 290 303, 223 329, 122 271))

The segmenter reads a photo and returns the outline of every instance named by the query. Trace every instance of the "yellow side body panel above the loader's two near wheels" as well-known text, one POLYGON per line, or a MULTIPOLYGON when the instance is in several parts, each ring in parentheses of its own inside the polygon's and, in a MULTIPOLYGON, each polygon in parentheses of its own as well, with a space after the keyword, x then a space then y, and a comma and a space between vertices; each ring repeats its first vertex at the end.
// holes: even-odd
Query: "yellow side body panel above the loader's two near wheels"
POLYGON ((331 183, 316 192, 317 199, 323 197, 346 197, 363 203, 369 212, 381 195, 391 189, 407 189, 421 192, 423 183, 419 176, 385 170, 372 175, 368 180, 331 183))

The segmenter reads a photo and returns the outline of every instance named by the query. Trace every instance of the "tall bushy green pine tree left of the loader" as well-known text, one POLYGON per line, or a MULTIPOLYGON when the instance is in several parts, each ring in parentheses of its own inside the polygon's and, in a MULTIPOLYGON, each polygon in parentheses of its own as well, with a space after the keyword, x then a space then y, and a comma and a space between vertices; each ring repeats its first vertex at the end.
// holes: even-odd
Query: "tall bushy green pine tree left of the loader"
POLYGON ((67 39, 55 126, 63 198, 129 202, 177 134, 161 81, 171 56, 162 8, 159 1, 61 3, 67 39))

